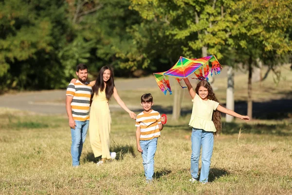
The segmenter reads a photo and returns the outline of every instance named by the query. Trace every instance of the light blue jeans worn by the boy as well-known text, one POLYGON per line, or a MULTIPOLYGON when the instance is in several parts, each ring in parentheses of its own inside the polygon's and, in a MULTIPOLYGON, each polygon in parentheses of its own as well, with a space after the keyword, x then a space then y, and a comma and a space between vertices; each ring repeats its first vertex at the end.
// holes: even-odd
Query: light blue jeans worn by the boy
POLYGON ((154 174, 154 155, 157 148, 157 139, 155 137, 150 140, 140 140, 146 180, 151 180, 154 174))

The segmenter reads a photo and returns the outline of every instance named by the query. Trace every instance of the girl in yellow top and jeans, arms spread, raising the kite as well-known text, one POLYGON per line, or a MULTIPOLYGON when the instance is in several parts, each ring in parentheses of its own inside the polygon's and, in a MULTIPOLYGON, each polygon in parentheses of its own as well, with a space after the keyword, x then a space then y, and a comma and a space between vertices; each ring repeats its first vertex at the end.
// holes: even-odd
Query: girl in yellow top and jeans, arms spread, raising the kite
POLYGON ((218 99, 213 93, 209 82, 202 80, 197 84, 194 91, 188 78, 183 79, 193 101, 193 110, 189 125, 192 129, 192 156, 191 176, 193 183, 199 180, 199 158, 202 147, 202 167, 200 182, 207 183, 210 169, 210 162, 213 153, 214 134, 221 131, 220 112, 249 121, 248 116, 242 116, 236 112, 219 105, 218 99))

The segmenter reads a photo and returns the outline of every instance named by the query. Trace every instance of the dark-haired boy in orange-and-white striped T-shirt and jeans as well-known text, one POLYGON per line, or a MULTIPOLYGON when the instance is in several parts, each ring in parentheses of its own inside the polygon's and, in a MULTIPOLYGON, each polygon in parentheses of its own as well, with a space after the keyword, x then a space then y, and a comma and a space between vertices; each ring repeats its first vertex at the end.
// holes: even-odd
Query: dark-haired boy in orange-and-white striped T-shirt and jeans
POLYGON ((144 111, 136 119, 136 141, 137 150, 142 153, 146 182, 149 183, 154 174, 154 155, 157 139, 163 129, 161 121, 164 121, 164 118, 160 117, 159 112, 151 109, 153 105, 151 94, 144 94, 141 97, 141 105, 144 111))

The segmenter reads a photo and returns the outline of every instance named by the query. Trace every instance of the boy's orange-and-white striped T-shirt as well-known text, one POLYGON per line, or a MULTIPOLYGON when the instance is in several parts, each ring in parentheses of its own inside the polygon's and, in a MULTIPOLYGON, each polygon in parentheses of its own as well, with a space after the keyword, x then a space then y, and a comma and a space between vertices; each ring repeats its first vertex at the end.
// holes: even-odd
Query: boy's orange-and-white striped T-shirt
POLYGON ((150 140, 155 137, 160 137, 158 124, 161 124, 160 114, 152 110, 148 114, 143 112, 137 115, 136 127, 140 127, 140 140, 150 140))

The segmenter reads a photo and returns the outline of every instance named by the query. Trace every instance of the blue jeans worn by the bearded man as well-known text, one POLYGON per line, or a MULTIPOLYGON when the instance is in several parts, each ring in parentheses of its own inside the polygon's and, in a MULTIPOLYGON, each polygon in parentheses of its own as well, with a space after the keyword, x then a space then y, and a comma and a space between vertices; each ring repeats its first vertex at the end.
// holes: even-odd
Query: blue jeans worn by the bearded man
POLYGON ((85 142, 89 120, 78 121, 75 120, 75 129, 71 128, 72 145, 71 145, 71 155, 72 155, 72 165, 80 165, 80 156, 83 148, 83 143, 85 142))

